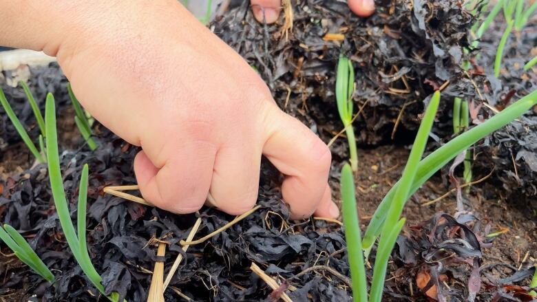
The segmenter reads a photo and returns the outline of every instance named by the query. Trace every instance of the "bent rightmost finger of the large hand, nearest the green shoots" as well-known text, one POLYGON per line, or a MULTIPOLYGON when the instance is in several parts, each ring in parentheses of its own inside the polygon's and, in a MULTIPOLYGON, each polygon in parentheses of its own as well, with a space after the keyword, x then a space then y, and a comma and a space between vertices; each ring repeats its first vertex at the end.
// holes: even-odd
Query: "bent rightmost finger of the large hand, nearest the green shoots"
MULTIPOLYGON (((284 200, 291 206, 291 217, 302 219, 319 208, 319 215, 330 215, 332 206, 327 191, 330 150, 299 120, 275 110, 263 154, 285 175, 284 200)), ((335 211, 332 211, 335 213, 335 211)))

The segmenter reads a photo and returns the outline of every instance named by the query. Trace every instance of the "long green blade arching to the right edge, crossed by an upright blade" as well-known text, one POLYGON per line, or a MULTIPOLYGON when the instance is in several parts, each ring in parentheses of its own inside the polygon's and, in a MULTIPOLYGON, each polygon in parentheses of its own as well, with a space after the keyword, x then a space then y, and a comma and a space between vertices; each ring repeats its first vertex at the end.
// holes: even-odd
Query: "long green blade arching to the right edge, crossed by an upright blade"
MULTIPOLYGON (((512 120, 518 118, 518 116, 521 116, 535 105, 537 105, 537 91, 533 91, 531 94, 520 98, 516 103, 503 109, 503 111, 492 118, 489 118, 489 120, 461 133, 461 135, 444 144, 439 149, 436 149, 417 164, 417 172, 414 181, 410 185, 410 191, 408 191, 408 194, 404 197, 408 198, 410 195, 414 194, 425 181, 436 173, 436 171, 439 171, 439 169, 450 160, 455 158, 456 155, 468 149, 472 144, 475 144, 478 140, 481 140, 481 138, 489 135, 489 133, 509 124, 509 122, 512 122, 512 120)), ((394 199, 397 188, 400 185, 401 180, 392 186, 390 191, 388 191, 383 198, 381 204, 377 207, 375 214, 370 220, 364 239, 362 240, 362 247, 364 249, 370 249, 381 233, 388 210, 392 204, 392 199, 394 199)))

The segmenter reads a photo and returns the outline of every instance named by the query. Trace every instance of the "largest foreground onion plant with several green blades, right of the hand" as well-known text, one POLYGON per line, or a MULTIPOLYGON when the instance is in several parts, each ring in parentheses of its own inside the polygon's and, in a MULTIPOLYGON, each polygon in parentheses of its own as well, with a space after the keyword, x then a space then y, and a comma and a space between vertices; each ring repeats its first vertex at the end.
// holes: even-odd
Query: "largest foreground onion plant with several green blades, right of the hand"
MULTIPOLYGON (((417 191, 426 180, 436 173, 436 171, 441 169, 442 166, 447 164, 456 155, 463 152, 481 138, 489 135, 492 131, 496 131, 515 118, 518 118, 518 116, 524 114, 525 111, 531 109, 534 105, 537 105, 537 91, 533 91, 531 94, 521 98, 513 105, 496 114, 496 116, 483 122, 481 125, 461 133, 459 136, 421 160, 432 123, 434 122, 434 117, 436 116, 439 101, 440 93, 439 91, 436 91, 425 110, 407 164, 403 170, 403 175, 401 176, 401 179, 392 186, 390 191, 388 191, 381 204, 379 204, 363 239, 361 239, 358 224, 355 205, 355 183, 354 180, 352 180, 352 172, 348 165, 344 166, 341 171, 343 222, 347 240, 354 301, 381 301, 388 260, 395 241, 397 240, 397 236, 405 223, 405 218, 401 218, 401 213, 410 196, 417 191), (373 268, 370 296, 368 299, 366 292, 364 250, 366 255, 368 255, 372 248, 372 244, 375 243, 377 237, 380 238, 379 246, 375 257, 375 266, 373 268), (360 250, 360 248, 363 250, 360 250)), ((459 108, 461 107, 463 107, 463 105, 460 105, 459 108)), ((464 123, 465 121, 463 121, 463 125, 464 123)))

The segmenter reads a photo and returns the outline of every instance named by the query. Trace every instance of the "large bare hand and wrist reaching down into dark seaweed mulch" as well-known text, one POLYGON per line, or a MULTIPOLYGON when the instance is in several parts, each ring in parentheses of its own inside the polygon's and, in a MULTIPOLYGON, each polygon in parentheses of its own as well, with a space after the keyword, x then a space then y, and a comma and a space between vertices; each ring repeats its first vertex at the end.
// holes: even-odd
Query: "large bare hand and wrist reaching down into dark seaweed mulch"
POLYGON ((293 218, 339 215, 326 144, 178 1, 6 1, 0 19, 0 45, 56 56, 85 109, 142 147, 134 172, 149 202, 192 213, 210 193, 243 213, 264 155, 285 175, 293 218))

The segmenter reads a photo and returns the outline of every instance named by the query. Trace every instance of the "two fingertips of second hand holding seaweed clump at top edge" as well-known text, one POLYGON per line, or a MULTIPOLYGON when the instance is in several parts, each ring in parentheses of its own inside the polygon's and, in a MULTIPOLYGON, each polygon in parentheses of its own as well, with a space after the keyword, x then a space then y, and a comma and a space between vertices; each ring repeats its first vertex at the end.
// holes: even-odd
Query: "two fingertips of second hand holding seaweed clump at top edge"
MULTIPOLYGON (((259 22, 274 23, 280 16, 282 0, 250 0, 253 15, 259 22)), ((375 12, 374 0, 348 0, 348 7, 360 17, 375 12)))

